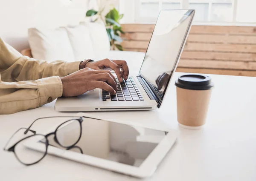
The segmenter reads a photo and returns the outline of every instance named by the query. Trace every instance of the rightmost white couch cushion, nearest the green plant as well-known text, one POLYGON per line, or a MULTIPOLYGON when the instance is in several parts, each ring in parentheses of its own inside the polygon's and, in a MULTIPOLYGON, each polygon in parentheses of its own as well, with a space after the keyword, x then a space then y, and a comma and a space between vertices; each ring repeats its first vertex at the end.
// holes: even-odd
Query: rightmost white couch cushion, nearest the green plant
POLYGON ((87 26, 90 30, 90 36, 93 42, 93 49, 95 54, 94 59, 100 60, 106 58, 110 51, 110 43, 104 23, 81 22, 80 24, 87 26))

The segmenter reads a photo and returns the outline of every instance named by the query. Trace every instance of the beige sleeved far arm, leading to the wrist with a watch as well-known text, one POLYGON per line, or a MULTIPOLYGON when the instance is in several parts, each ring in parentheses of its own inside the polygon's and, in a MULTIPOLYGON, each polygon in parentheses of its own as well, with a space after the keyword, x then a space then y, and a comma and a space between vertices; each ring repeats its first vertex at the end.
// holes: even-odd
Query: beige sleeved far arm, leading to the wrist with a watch
POLYGON ((64 77, 79 70, 80 62, 47 62, 22 56, 0 38, 0 72, 2 81, 37 80, 51 76, 64 77))

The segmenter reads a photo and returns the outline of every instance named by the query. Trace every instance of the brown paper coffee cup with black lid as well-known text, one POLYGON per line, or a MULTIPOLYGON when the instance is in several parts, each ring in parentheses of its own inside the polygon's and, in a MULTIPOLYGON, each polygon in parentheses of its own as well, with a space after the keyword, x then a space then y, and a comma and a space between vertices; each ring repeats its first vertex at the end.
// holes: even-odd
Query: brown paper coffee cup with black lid
POLYGON ((177 88, 177 120, 181 127, 200 129, 206 122, 214 84, 209 76, 182 75, 175 81, 177 88))

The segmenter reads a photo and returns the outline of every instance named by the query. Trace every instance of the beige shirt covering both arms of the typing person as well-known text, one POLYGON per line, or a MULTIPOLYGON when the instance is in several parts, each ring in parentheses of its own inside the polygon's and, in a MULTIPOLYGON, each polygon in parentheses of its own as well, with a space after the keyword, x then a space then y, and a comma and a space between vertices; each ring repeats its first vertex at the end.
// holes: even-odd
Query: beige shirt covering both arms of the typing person
POLYGON ((0 38, 0 114, 33 109, 62 96, 60 77, 79 70, 79 62, 48 63, 22 56, 0 38))

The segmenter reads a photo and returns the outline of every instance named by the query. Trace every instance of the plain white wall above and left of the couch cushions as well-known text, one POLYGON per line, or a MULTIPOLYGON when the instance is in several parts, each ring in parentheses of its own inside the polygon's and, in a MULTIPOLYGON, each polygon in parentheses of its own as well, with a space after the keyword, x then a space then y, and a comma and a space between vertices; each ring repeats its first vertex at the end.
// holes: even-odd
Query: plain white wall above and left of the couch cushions
POLYGON ((55 28, 84 20, 88 0, 0 0, 0 37, 18 51, 28 48, 27 29, 55 28))

